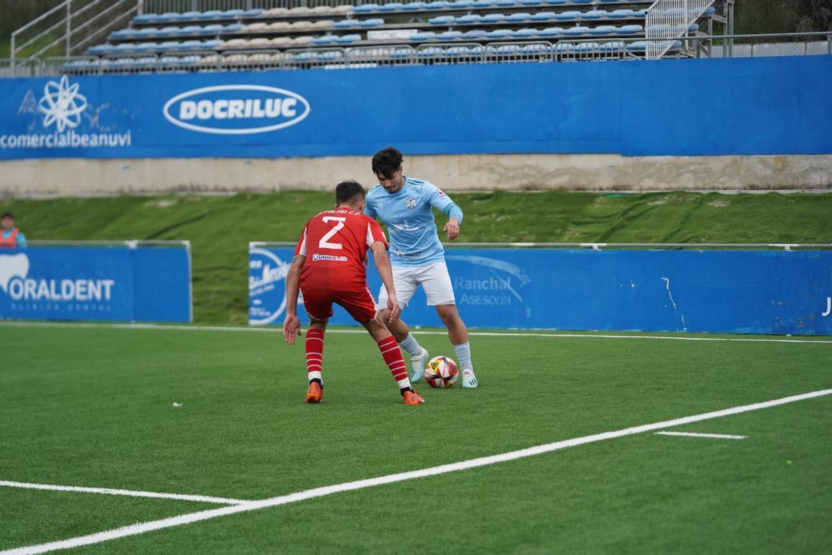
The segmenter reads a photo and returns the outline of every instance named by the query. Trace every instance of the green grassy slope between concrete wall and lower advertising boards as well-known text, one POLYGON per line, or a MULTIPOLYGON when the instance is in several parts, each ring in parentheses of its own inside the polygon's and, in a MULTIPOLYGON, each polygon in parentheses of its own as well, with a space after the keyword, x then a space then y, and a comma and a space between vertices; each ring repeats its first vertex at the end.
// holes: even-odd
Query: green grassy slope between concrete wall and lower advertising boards
MULTIPOLYGON (((830 243, 832 195, 457 193, 463 241, 830 243)), ((7 200, 30 240, 187 239, 194 318, 247 321, 247 244, 297 240, 324 192, 7 200)), ((437 218, 443 222, 443 216, 437 218)))

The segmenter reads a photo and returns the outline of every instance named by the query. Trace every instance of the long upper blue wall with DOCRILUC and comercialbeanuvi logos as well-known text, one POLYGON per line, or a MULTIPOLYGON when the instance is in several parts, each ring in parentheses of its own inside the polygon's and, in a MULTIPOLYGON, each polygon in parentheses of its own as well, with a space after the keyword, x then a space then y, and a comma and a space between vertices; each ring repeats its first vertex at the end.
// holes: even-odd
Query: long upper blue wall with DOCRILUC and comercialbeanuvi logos
POLYGON ((0 160, 828 154, 830 83, 832 56, 10 78, 0 160))

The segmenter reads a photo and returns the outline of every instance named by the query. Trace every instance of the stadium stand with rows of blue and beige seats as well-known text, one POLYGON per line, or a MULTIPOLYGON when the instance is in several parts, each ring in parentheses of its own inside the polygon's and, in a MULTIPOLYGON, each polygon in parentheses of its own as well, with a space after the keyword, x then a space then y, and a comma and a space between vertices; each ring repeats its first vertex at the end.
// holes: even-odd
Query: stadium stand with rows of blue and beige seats
MULTIPOLYGON (((676 37, 710 34, 704 29, 710 31, 719 18, 715 2, 698 2, 706 6, 691 7, 686 28, 654 26, 674 34, 664 52, 693 56, 689 43, 676 37)), ((87 48, 87 57, 67 60, 64 69, 85 73, 327 67, 348 58, 379 65, 438 58, 469 62, 645 57, 652 3, 437 0, 143 12, 128 26, 110 32, 106 42, 87 48)), ((691 0, 691 6, 695 3, 691 0)), ((682 15, 677 7, 666 11, 682 15)))

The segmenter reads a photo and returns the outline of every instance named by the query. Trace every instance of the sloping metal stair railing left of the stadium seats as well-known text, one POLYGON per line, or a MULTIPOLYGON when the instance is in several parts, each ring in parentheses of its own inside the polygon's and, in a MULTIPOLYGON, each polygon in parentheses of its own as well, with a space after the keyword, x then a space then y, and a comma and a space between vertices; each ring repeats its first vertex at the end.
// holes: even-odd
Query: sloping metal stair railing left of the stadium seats
MULTIPOLYGON (((79 2, 76 0, 74 5, 79 2)), ((82 52, 98 38, 139 12, 141 0, 89 0, 73 9, 64 0, 12 32, 10 57, 42 57, 61 45, 65 56, 82 52)))

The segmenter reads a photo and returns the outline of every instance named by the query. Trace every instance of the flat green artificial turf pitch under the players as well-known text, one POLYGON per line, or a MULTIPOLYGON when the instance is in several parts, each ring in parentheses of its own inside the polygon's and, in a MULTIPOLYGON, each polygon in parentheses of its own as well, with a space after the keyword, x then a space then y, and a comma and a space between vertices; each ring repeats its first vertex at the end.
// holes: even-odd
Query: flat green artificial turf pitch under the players
MULTIPOLYGON (((0 480, 239 499, 832 387, 822 341, 473 335, 481 386, 420 384, 426 404, 405 407, 373 341, 339 332, 326 337, 324 402, 307 405, 303 345, 276 331, 0 332, 14 345, 0 480)), ((452 352, 442 334, 417 337, 452 352)), ((678 428, 741 441, 638 434, 79 551, 829 553, 830 409, 832 396, 678 428)), ((0 548, 215 507, 104 497, 0 487, 0 548)))

